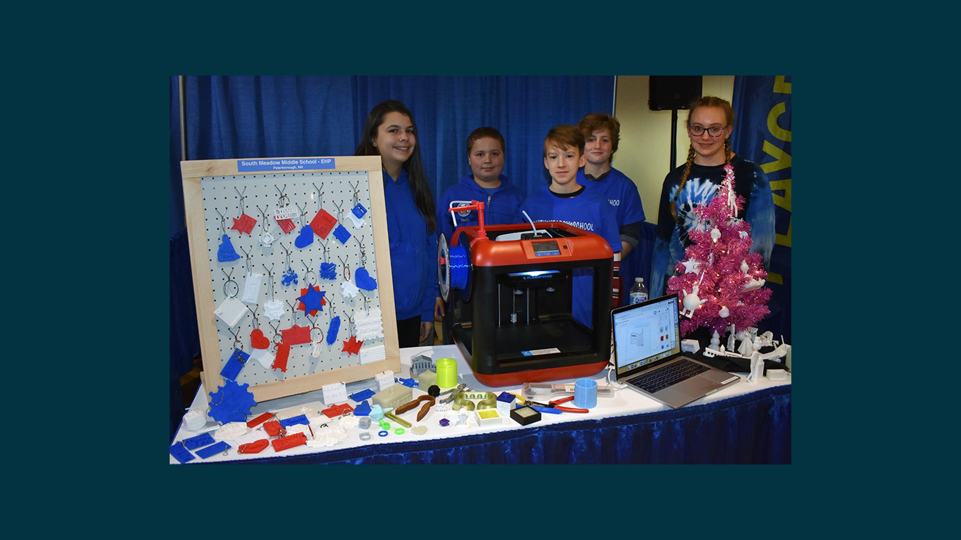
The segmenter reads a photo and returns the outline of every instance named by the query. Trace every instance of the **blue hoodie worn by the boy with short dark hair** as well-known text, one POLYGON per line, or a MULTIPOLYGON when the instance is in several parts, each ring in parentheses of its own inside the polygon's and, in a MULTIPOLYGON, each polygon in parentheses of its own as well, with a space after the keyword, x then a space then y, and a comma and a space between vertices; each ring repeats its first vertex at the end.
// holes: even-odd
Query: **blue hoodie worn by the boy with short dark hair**
MULTIPOLYGON (((437 230, 444 233, 447 243, 451 243, 451 235, 454 233, 454 222, 451 220, 451 212, 447 211, 451 201, 480 201, 485 207, 483 209, 483 222, 485 225, 500 225, 508 223, 527 223, 521 214, 521 203, 524 202, 524 195, 521 191, 507 181, 507 177, 500 176, 501 185, 495 188, 493 194, 488 194, 487 190, 476 182, 474 175, 464 175, 458 184, 454 184, 444 191, 437 201, 437 230)), ((477 210, 467 212, 454 212, 457 218, 457 227, 478 224, 477 210), (463 213, 463 215, 461 215, 463 213)))

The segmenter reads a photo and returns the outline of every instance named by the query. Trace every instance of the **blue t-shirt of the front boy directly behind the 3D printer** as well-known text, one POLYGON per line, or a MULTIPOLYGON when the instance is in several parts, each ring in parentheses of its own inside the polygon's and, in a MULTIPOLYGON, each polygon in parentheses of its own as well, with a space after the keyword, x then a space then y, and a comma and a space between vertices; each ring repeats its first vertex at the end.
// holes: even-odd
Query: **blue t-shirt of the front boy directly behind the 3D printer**
MULTIPOLYGON (((621 251, 621 235, 618 233, 614 212, 606 199, 583 189, 578 195, 564 197, 555 195, 549 187, 535 192, 521 207, 530 219, 537 221, 562 221, 589 233, 600 235, 610 245, 611 251, 621 251)), ((574 272, 572 314, 581 324, 592 328, 591 315, 594 289, 593 269, 574 272)))

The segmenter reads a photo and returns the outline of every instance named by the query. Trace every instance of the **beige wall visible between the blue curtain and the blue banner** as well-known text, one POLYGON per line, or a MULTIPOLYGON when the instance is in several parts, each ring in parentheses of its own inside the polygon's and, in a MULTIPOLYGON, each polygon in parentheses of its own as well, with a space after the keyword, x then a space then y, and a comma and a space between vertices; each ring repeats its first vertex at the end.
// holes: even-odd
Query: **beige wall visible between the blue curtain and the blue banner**
MULTIPOLYGON (((650 77, 618 76, 614 96, 614 115, 621 122, 621 142, 612 165, 637 184, 644 205, 644 215, 657 223, 657 205, 661 184, 671 167, 671 111, 648 107, 650 77)), ((730 101, 734 93, 734 76, 703 78, 703 94, 730 101)), ((684 130, 687 111, 678 110, 677 164, 687 159, 690 145, 684 130)))

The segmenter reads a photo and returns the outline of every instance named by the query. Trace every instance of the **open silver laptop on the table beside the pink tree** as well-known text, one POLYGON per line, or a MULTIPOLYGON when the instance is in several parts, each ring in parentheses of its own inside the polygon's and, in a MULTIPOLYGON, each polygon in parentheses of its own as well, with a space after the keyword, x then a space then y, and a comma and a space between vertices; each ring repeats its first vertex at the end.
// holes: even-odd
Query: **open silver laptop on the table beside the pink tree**
POLYGON ((671 408, 680 408, 740 377, 680 352, 678 295, 610 312, 617 380, 671 408))

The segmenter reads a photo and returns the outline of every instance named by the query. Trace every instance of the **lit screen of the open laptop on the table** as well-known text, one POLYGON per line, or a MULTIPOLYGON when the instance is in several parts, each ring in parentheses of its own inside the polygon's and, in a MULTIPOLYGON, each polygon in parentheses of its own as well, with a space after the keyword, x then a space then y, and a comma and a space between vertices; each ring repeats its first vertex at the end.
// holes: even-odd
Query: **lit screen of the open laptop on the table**
POLYGON ((680 353, 678 295, 616 309, 612 318, 618 377, 680 353))

